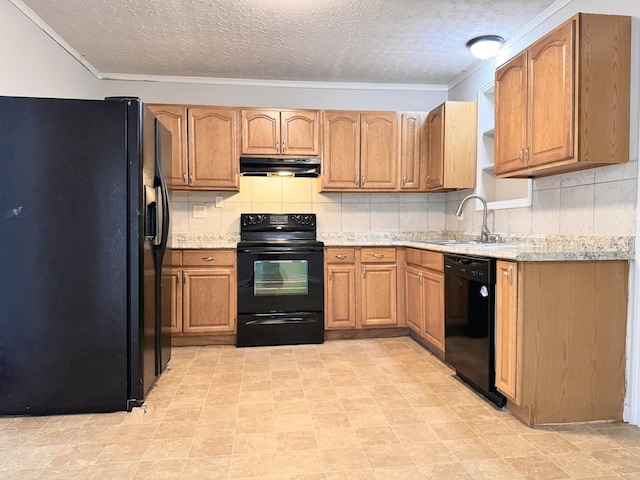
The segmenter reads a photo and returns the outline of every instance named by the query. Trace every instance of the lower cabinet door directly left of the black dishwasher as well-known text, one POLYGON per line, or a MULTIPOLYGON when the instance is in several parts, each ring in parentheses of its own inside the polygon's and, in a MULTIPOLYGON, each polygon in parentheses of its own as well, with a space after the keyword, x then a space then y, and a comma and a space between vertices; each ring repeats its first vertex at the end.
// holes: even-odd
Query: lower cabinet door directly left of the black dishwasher
POLYGON ((424 298, 422 337, 444 352, 444 273, 424 270, 421 280, 424 298))

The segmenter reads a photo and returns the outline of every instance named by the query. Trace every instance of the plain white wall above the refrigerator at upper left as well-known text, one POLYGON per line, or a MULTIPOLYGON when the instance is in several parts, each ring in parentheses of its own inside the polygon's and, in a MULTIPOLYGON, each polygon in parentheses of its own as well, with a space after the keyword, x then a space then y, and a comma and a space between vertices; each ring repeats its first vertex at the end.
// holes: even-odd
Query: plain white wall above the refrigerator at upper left
POLYGON ((99 98, 99 80, 9 0, 0 0, 0 95, 99 98))

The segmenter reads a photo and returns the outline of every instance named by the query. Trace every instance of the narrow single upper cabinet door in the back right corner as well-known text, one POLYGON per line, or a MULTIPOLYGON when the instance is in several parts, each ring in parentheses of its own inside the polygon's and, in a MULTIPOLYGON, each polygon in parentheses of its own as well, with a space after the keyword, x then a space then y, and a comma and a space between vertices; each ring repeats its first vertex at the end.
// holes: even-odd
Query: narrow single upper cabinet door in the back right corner
POLYGON ((422 115, 403 113, 400 127, 400 190, 419 190, 422 115))

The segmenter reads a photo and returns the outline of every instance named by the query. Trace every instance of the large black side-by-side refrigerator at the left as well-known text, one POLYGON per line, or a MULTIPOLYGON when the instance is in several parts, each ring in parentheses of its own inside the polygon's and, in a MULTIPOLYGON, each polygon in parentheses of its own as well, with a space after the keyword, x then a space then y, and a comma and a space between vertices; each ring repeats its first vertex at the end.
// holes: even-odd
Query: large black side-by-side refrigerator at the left
POLYGON ((143 403, 171 354, 170 168, 137 99, 0 97, 0 415, 143 403))

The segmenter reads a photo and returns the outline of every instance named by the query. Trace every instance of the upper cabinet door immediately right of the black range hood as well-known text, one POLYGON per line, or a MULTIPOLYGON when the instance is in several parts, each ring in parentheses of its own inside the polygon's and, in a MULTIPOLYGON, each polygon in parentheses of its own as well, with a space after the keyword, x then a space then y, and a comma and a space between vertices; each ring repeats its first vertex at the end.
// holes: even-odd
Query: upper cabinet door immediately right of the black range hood
POLYGON ((360 115, 324 112, 322 190, 354 190, 360 184, 360 115))

